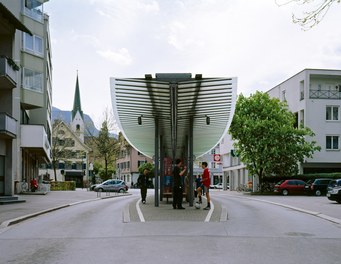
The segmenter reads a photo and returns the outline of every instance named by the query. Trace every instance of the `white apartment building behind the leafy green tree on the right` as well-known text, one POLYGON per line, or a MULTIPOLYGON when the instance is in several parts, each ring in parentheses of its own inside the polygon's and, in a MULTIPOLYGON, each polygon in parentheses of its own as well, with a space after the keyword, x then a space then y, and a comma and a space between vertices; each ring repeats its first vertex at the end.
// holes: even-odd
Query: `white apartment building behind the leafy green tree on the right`
MULTIPOLYGON (((314 153, 299 166, 299 173, 341 171, 340 106, 341 70, 304 69, 267 92, 271 97, 286 101, 296 116, 297 126, 309 127, 321 151, 314 153)), ((233 151, 230 135, 221 143, 224 177, 229 177, 230 188, 239 184, 257 186, 257 179, 248 175, 245 165, 233 151)))

